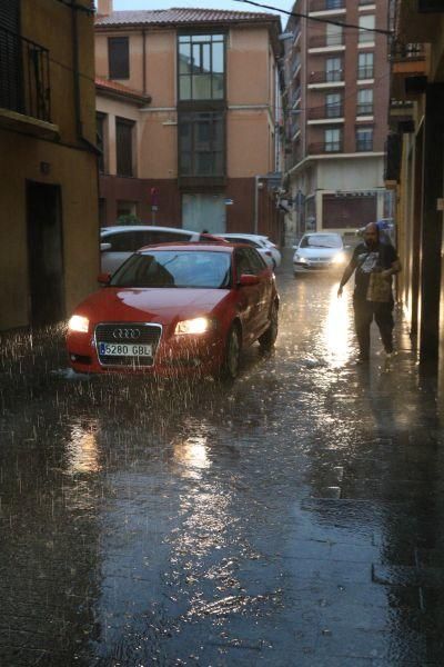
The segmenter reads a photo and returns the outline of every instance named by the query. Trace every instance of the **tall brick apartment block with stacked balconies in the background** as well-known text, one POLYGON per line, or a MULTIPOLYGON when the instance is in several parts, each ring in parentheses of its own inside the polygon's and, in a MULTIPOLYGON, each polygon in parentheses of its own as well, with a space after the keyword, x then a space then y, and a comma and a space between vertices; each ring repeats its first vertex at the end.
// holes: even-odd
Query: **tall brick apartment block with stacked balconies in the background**
POLYGON ((283 36, 289 242, 392 215, 383 177, 387 2, 296 0, 293 12, 283 36))

